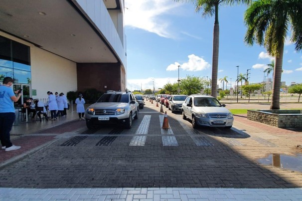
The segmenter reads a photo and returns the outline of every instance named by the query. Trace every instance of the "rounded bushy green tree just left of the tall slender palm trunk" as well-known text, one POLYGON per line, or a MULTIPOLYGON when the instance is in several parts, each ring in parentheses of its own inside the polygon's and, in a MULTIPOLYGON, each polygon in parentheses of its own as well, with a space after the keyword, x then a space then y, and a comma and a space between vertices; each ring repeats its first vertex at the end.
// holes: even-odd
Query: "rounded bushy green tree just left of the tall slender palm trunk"
POLYGON ((186 78, 180 80, 179 86, 182 89, 183 94, 191 95, 200 93, 203 84, 200 77, 187 75, 186 78))

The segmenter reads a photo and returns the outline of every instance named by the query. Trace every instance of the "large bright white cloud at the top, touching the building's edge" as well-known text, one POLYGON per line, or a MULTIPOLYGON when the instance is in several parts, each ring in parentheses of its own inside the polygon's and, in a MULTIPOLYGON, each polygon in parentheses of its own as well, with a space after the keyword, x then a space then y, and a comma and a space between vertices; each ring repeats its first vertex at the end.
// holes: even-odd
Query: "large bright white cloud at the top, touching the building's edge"
POLYGON ((169 21, 162 17, 180 3, 170 0, 125 0, 125 25, 141 28, 161 37, 174 38, 169 21))

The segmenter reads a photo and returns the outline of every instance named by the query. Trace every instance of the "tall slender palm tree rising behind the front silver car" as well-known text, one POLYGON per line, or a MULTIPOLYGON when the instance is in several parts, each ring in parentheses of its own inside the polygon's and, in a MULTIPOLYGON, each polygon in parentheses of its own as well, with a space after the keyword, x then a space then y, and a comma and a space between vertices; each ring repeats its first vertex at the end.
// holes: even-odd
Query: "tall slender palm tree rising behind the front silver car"
POLYGON ((196 12, 202 11, 203 17, 215 16, 213 31, 213 55, 212 55, 212 86, 211 95, 217 97, 218 55, 219 55, 219 21, 218 10, 220 5, 248 4, 252 0, 175 0, 186 1, 195 4, 196 12))

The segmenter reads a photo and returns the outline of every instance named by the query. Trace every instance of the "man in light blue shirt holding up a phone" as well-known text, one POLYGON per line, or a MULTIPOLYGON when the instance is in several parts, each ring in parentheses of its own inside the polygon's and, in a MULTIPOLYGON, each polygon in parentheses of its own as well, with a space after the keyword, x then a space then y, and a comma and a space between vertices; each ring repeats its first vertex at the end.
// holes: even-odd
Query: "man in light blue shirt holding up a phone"
POLYGON ((5 77, 3 84, 0 86, 0 141, 2 149, 6 152, 20 149, 20 146, 15 146, 10 142, 10 130, 15 120, 15 111, 13 103, 17 102, 21 97, 21 91, 17 90, 17 96, 12 90, 13 79, 5 77))

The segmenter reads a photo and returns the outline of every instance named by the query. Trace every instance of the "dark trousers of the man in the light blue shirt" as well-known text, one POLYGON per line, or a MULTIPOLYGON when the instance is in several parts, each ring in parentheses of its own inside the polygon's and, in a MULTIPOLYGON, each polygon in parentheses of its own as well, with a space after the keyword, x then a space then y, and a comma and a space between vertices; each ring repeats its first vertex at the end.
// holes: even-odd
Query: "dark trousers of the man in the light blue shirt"
POLYGON ((13 112, 0 113, 0 141, 2 147, 6 146, 6 148, 8 148, 12 146, 10 142, 9 132, 11 130, 14 120, 15 120, 15 113, 13 112))

